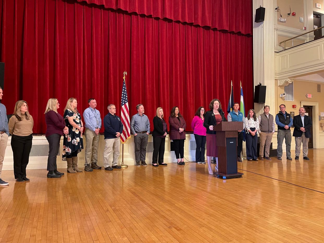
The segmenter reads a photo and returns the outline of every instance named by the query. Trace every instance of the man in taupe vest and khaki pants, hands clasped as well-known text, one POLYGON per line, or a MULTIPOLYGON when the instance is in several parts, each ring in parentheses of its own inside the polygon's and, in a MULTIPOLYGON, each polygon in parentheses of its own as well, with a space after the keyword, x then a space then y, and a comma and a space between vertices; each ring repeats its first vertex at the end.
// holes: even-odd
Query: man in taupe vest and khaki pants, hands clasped
POLYGON ((263 113, 259 115, 259 134, 260 134, 260 160, 263 160, 263 150, 265 148, 265 159, 271 160, 269 157, 270 145, 272 135, 274 133, 274 119, 269 113, 270 106, 265 105, 263 107, 263 113))

